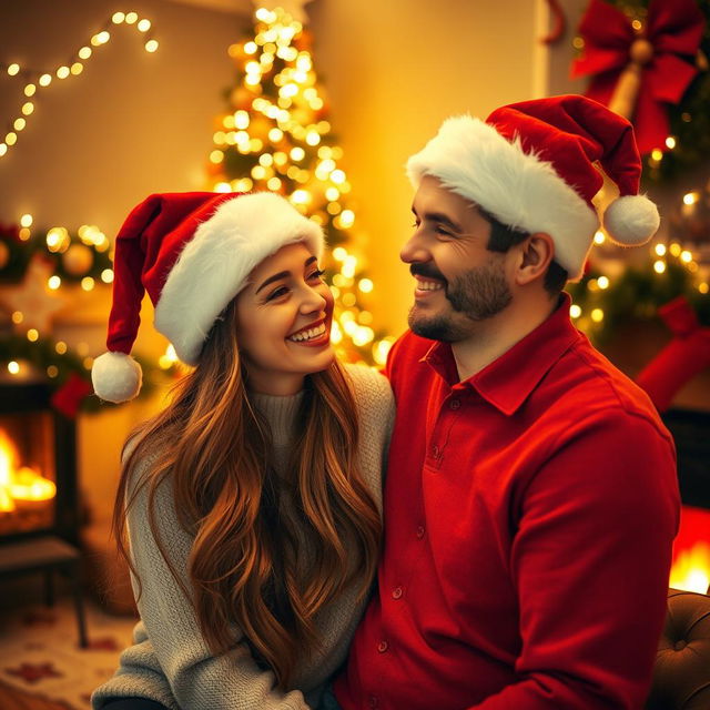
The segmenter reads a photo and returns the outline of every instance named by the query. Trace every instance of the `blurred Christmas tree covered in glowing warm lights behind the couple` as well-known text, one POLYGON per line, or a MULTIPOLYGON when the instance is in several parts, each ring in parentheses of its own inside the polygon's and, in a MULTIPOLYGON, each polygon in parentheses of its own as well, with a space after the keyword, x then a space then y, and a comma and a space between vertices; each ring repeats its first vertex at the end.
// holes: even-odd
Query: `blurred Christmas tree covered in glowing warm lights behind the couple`
POLYGON ((367 277, 347 200, 351 184, 327 121, 311 37, 282 9, 256 10, 254 32, 229 49, 237 69, 216 119, 210 153, 212 190, 268 190, 285 195, 324 230, 324 268, 335 296, 332 339, 349 362, 384 364, 392 338, 373 328, 367 277))

